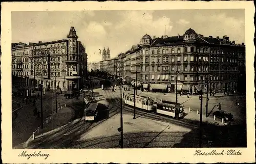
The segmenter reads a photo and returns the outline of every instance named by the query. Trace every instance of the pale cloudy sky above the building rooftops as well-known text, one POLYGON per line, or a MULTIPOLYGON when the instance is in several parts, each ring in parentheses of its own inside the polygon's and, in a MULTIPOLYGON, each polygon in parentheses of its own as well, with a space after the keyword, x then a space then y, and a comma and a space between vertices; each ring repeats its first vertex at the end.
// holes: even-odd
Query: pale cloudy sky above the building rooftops
POLYGON ((204 36, 227 35, 242 43, 244 21, 243 9, 12 12, 12 42, 67 39, 74 26, 78 40, 86 46, 88 62, 97 62, 103 47, 109 47, 114 58, 139 44, 145 34, 177 36, 189 28, 204 36))

